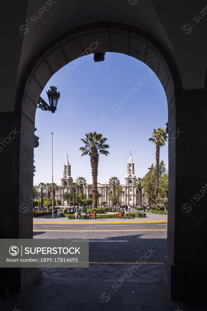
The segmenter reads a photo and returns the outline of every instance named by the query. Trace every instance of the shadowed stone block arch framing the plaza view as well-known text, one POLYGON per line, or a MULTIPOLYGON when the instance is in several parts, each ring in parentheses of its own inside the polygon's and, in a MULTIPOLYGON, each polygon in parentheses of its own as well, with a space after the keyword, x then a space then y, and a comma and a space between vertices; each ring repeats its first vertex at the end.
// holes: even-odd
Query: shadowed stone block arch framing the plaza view
MULTIPOLYGON (((38 98, 52 75, 66 64, 86 55, 96 44, 95 53, 124 53, 148 65, 163 85, 168 102, 168 132, 175 132, 175 95, 181 87, 180 77, 173 58, 150 34, 133 26, 118 23, 92 23, 71 30, 48 44, 30 63, 20 85, 15 112, 20 119, 19 146, 19 206, 31 200, 33 187, 34 122, 38 98), (100 44, 99 44, 100 43, 100 44), (84 54, 85 53, 85 54, 84 54)), ((92 50, 92 53, 94 53, 92 50)), ((169 156, 175 154, 175 141, 169 144, 169 156)), ((173 204, 175 191, 174 156, 169 160, 169 202, 173 204)), ((32 237, 32 211, 18 214, 18 237, 32 237), (25 221, 28 220, 28 221, 25 221), (21 232, 21 233, 20 233, 21 232)), ((27 270, 28 271, 28 270, 27 270)), ((19 273, 19 272, 18 272, 19 273)), ((32 273, 17 280, 16 287, 24 288, 34 281, 32 273)), ((13 285, 15 286, 15 285, 13 285)))

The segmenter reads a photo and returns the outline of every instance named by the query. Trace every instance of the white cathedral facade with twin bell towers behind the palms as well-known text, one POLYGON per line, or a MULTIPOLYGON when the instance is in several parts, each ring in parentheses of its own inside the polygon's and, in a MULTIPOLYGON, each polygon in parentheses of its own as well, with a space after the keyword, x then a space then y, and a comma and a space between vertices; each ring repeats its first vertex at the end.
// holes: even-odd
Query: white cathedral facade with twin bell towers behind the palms
MULTIPOLYGON (((123 189, 123 193, 120 196, 120 202, 128 205, 136 205, 138 204, 138 190, 135 188, 135 182, 137 177, 134 174, 134 162, 132 160, 132 155, 130 153, 129 161, 127 163, 127 174, 125 177, 125 184, 121 185, 123 189)), ((70 191, 70 183, 73 182, 71 177, 71 165, 68 161, 68 157, 65 161, 63 168, 63 178, 61 179, 61 186, 59 186, 59 190, 56 192, 56 200, 60 200, 62 202, 62 206, 67 206, 67 202, 63 198, 63 194, 65 192, 70 191)), ((112 188, 109 187, 109 184, 101 184, 97 182, 97 191, 100 193, 100 198, 98 199, 98 205, 101 202, 106 202, 106 204, 111 204, 108 193, 112 193, 112 188)), ((89 195, 92 194, 92 184, 88 184, 84 187, 83 192, 86 198, 89 198, 89 195)), ((145 204, 145 197, 142 193, 142 204, 145 204)))

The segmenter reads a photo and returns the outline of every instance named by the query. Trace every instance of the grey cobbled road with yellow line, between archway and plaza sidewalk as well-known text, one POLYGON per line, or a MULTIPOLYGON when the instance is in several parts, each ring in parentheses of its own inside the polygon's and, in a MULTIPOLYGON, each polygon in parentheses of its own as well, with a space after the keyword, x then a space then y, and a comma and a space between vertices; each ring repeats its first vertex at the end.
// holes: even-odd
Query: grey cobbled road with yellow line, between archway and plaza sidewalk
POLYGON ((115 224, 97 225, 97 223, 70 225, 70 227, 67 225, 45 227, 39 224, 34 225, 34 238, 89 239, 89 262, 136 262, 150 249, 153 253, 147 262, 163 262, 166 254, 167 225, 160 224, 162 223, 129 223, 125 224, 125 227, 115 224), (157 231, 164 228, 164 231, 157 231))

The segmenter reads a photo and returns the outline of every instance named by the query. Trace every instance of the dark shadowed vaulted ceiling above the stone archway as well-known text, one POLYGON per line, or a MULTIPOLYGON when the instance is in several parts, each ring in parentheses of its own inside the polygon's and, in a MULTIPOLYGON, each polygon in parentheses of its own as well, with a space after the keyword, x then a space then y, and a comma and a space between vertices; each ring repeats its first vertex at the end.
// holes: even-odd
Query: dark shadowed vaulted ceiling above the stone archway
MULTIPOLYGON (((204 88, 207 16, 203 14, 197 23, 193 20, 197 14, 202 17, 202 9, 205 13, 206 4, 201 0, 192 4, 187 0, 22 0, 13 5, 12 12, 10 3, 5 5, 11 16, 10 23, 5 24, 7 32, 2 37, 6 49, 2 51, 1 68, 5 72, 5 81, 1 88, 7 91, 8 106, 10 100, 15 101, 29 63, 47 43, 70 29, 97 21, 124 23, 149 32, 174 58, 183 88, 204 88), (35 15, 39 17, 39 14, 41 17, 35 22, 35 15), (19 31, 23 24, 29 27, 25 35, 19 31), (182 31, 186 24, 190 26, 182 31)), ((5 111, 9 110, 7 107, 5 111)))

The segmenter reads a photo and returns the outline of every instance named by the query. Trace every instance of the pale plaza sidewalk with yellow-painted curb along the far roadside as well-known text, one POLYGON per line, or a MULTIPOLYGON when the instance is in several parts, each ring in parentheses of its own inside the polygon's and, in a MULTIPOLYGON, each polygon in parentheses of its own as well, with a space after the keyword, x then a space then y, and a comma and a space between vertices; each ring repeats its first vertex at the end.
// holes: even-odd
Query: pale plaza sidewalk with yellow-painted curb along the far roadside
POLYGON ((88 224, 88 223, 94 223, 95 221, 100 223, 119 223, 119 222, 156 222, 156 221, 167 221, 168 215, 160 215, 160 214, 146 214, 145 218, 129 218, 129 219, 120 219, 120 218, 105 218, 105 219, 97 219, 97 220, 78 220, 78 219, 67 219, 66 217, 61 217, 60 214, 57 214, 57 217, 54 215, 54 219, 52 219, 52 215, 45 215, 45 216, 39 216, 33 218, 33 223, 47 223, 47 222, 53 222, 53 223, 70 223, 70 224, 88 224))

